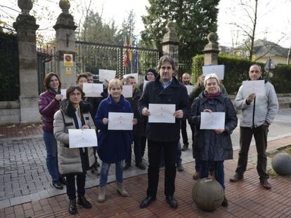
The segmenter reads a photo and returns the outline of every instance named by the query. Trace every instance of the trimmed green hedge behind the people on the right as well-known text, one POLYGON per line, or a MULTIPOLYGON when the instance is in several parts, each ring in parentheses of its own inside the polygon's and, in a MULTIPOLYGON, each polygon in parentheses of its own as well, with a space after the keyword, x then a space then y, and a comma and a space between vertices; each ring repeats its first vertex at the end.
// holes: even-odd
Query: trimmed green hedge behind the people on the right
MULTIPOLYGON (((219 55, 219 64, 226 66, 224 73, 224 86, 229 94, 236 94, 242 81, 248 78, 248 71, 250 65, 255 62, 250 62, 238 57, 219 55)), ((202 66, 204 64, 204 55, 197 55, 193 57, 192 79, 193 83, 198 80, 198 76, 202 74, 202 66)), ((261 69, 264 69, 264 64, 261 69)), ((269 81, 276 89, 276 93, 291 93, 291 66, 277 65, 275 69, 269 74, 269 81)))

